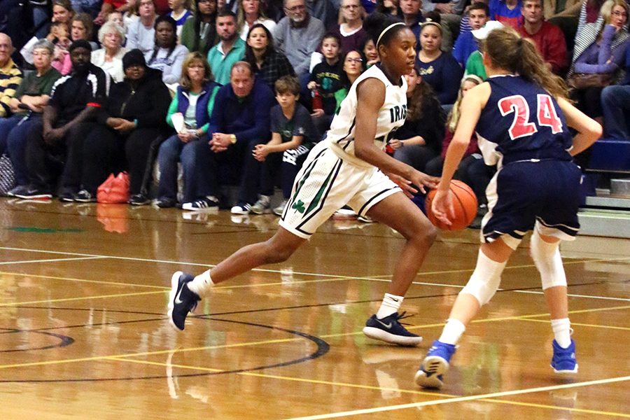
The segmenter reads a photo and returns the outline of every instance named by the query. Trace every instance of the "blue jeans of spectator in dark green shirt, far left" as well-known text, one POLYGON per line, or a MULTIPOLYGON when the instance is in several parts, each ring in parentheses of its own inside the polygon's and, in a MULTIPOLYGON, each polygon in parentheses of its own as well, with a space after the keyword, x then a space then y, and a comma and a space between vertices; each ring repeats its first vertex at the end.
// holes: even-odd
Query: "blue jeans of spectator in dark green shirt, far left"
POLYGON ((25 157, 26 136, 29 129, 38 121, 41 121, 39 114, 31 114, 27 120, 24 120, 23 116, 0 120, 0 153, 8 154, 18 186, 26 186, 29 183, 25 157))

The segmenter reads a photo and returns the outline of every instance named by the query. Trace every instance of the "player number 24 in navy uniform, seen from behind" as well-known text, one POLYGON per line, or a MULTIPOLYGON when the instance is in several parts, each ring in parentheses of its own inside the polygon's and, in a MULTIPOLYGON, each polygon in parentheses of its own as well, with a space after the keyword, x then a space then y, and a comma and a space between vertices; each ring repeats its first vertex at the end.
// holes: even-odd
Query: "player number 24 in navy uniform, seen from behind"
POLYGON ((507 259, 529 230, 554 332, 551 365, 559 374, 577 372, 559 244, 575 239, 580 228, 581 172, 572 155, 591 146, 601 136, 601 126, 567 101, 563 81, 547 69, 535 45, 513 29, 490 31, 483 50, 489 78, 461 104, 433 200, 435 216, 450 223, 449 183, 475 130, 486 164, 498 165, 498 171, 486 189, 489 211, 482 221, 475 271, 416 372, 416 383, 426 388, 442 387, 466 325, 496 292, 507 259), (575 137, 568 127, 577 131, 575 137))

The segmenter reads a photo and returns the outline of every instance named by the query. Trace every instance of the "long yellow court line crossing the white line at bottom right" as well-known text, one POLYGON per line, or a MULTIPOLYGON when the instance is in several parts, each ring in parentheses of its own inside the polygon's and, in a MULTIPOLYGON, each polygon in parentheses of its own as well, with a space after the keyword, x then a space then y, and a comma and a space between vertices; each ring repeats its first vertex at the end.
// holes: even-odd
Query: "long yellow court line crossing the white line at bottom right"
MULTIPOLYGON (((149 361, 149 360, 134 360, 134 359, 116 358, 116 357, 109 358, 109 360, 118 360, 120 362, 139 363, 141 365, 153 365, 153 366, 160 366, 160 367, 177 367, 179 369, 200 370, 202 372, 225 372, 225 370, 215 369, 213 367, 177 365, 177 364, 174 364, 174 363, 152 362, 152 361, 149 361)), ((330 385, 330 386, 344 386, 346 388, 360 388, 360 389, 366 389, 366 390, 369 390, 369 391, 399 392, 399 393, 407 393, 407 394, 412 394, 412 395, 426 395, 428 397, 436 397, 436 398, 437 397, 440 397, 440 398, 458 398, 458 395, 438 393, 438 392, 434 392, 434 391, 416 391, 416 390, 413 390, 413 389, 388 388, 388 387, 382 387, 382 386, 350 384, 348 382, 323 381, 321 379, 307 379, 307 378, 300 378, 300 377, 287 377, 287 376, 283 376, 283 375, 265 374, 265 373, 257 373, 257 372, 237 372, 237 374, 244 375, 244 376, 250 376, 250 377, 260 377, 260 378, 263 378, 263 379, 279 379, 279 380, 286 380, 286 381, 306 382, 308 384, 315 384, 315 385, 330 385)), ((525 407, 538 407, 538 408, 547 408, 547 409, 558 409, 558 410, 561 410, 561 411, 580 412, 580 413, 584 413, 584 414, 600 414, 600 415, 605 415, 605 416, 622 416, 622 417, 629 417, 630 418, 629 414, 620 414, 620 413, 615 413, 615 412, 602 412, 602 411, 598 411, 598 410, 573 408, 573 407, 560 407, 560 406, 556 406, 556 405, 537 404, 537 403, 533 403, 533 402, 496 400, 496 399, 492 399, 492 398, 484 398, 484 399, 481 399, 480 401, 483 401, 483 402, 496 402, 496 403, 507 404, 507 405, 520 405, 520 406, 525 406, 525 407)))

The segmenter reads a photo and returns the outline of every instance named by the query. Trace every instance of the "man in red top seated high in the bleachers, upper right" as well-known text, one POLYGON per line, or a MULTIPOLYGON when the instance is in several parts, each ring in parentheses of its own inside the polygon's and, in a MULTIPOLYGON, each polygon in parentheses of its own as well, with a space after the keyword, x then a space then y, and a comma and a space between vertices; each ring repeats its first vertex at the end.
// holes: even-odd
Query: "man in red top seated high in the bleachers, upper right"
POLYGON ((521 13, 523 24, 518 29, 521 36, 534 41, 553 73, 562 73, 567 64, 564 34, 559 27, 544 20, 542 0, 524 0, 521 13))

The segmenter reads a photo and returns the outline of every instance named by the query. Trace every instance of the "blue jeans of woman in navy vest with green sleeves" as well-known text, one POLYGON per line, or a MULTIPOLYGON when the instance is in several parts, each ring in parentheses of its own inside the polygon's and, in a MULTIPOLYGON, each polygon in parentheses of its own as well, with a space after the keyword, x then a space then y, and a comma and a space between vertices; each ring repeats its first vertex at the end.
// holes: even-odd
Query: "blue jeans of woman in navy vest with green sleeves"
MULTIPOLYGON (((216 188, 211 188, 204 170, 198 170, 200 155, 197 149, 209 149, 207 136, 183 143, 177 135, 169 137, 160 145, 158 162, 160 165, 160 186, 158 197, 177 198, 177 163, 183 169, 183 202, 193 202, 207 195, 216 195, 216 188)), ((201 167, 206 167, 201 165, 201 167)))

